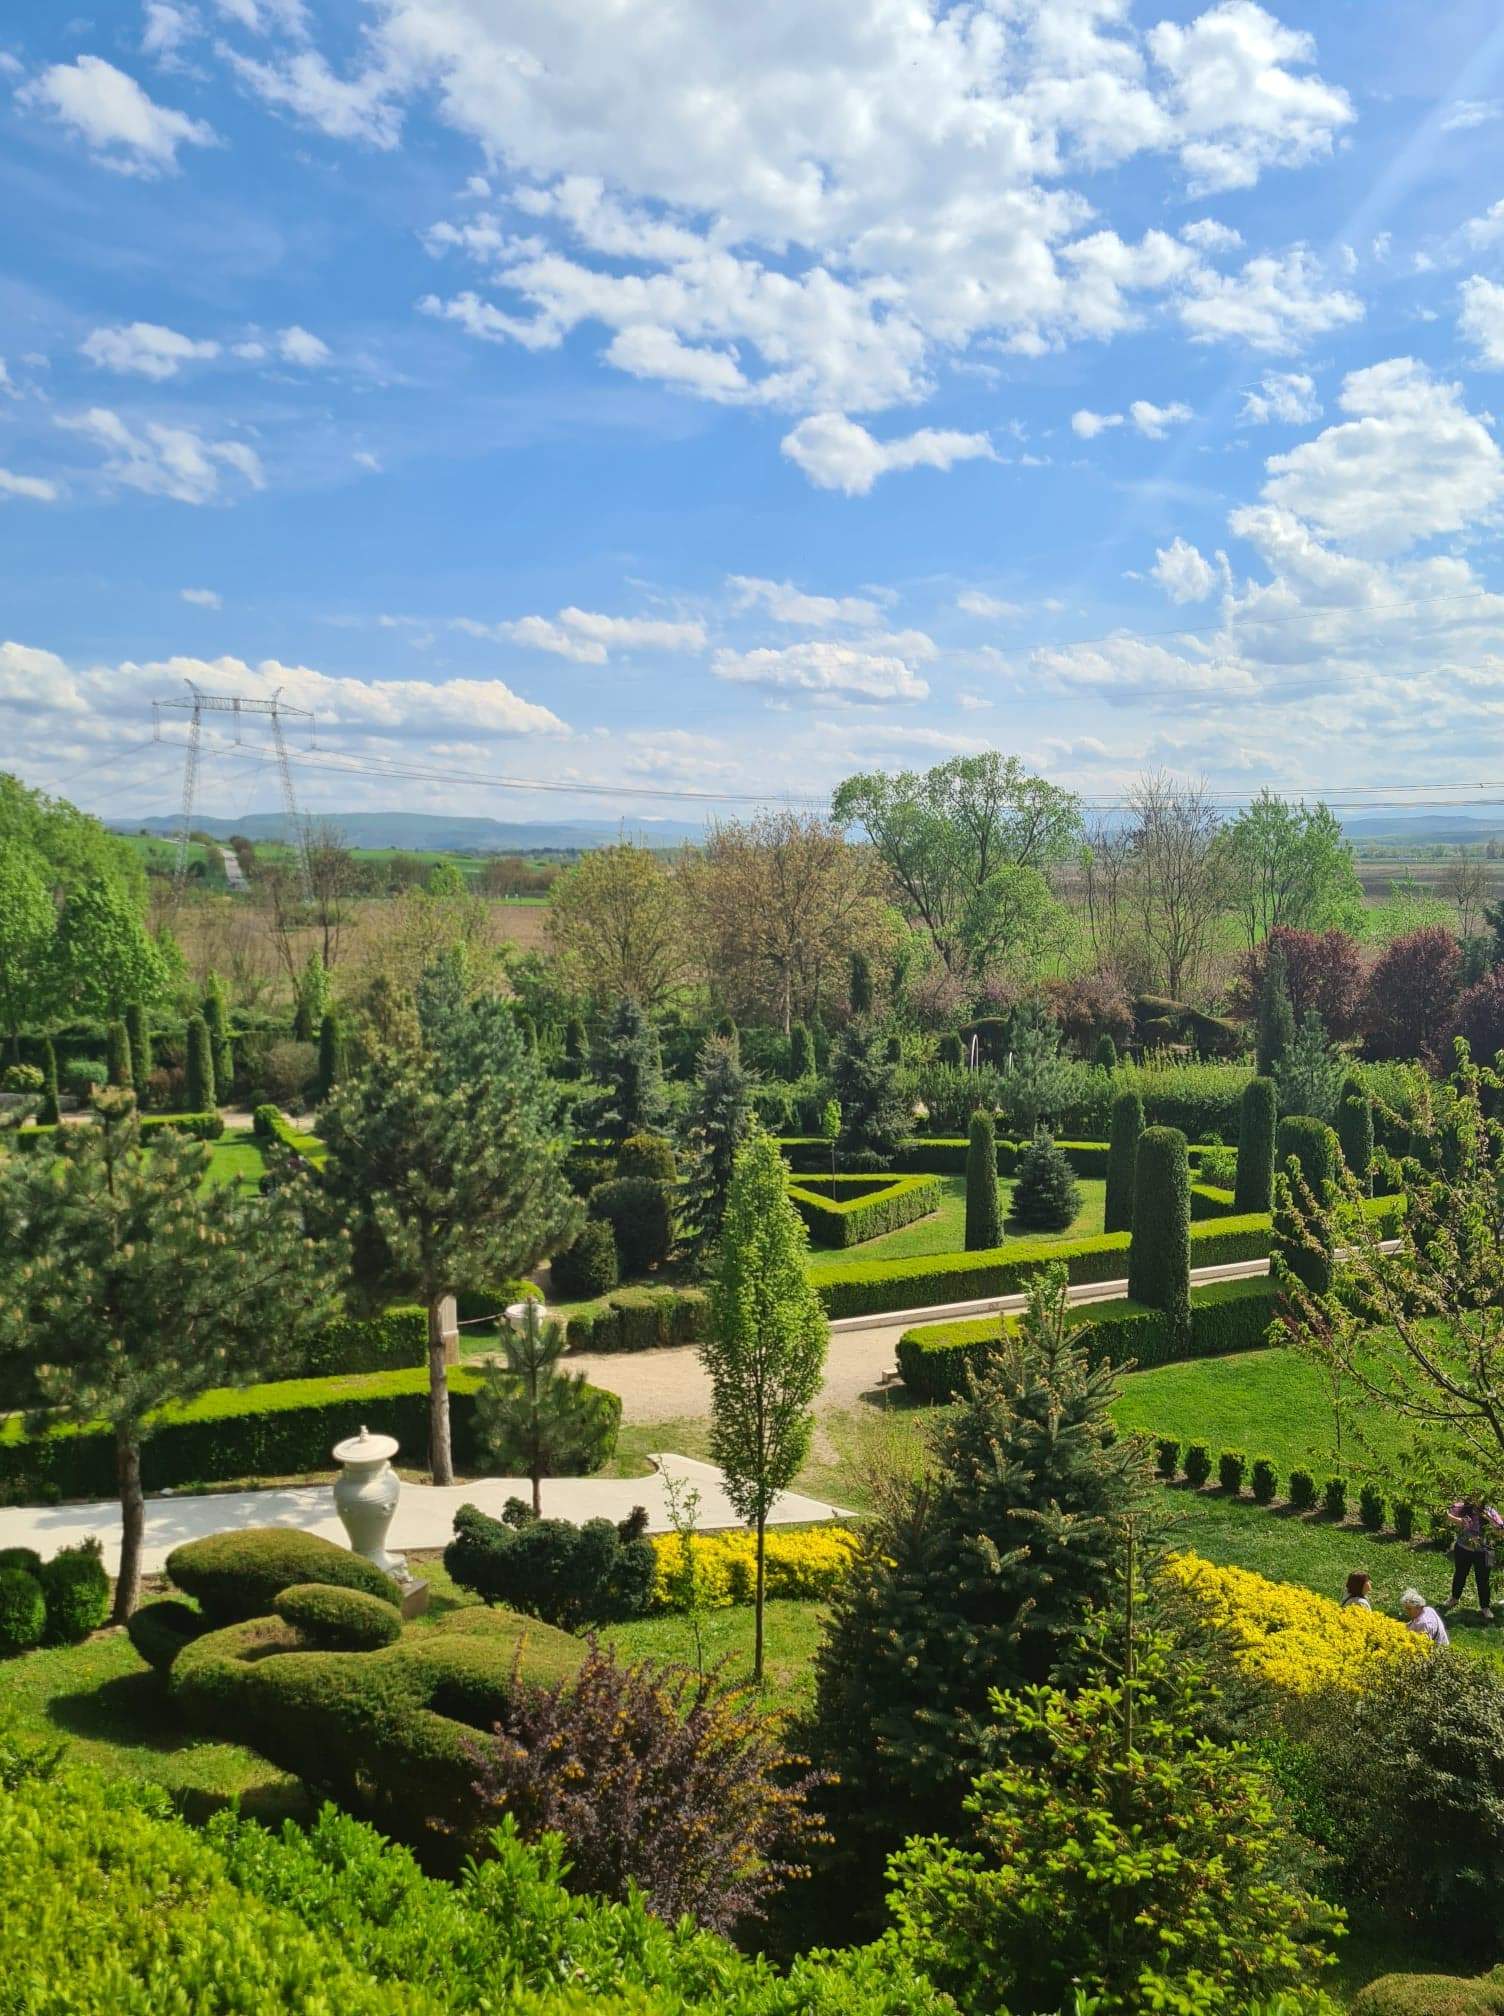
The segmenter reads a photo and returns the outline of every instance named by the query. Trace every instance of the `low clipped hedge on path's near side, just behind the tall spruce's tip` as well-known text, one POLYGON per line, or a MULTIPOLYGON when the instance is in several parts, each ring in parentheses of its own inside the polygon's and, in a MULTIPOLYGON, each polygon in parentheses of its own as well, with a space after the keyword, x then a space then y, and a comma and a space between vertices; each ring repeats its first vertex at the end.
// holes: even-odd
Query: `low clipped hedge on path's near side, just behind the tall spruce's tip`
MULTIPOLYGON (((1073 1331, 1089 1331, 1087 1359, 1093 1365, 1125 1365, 1147 1371, 1177 1359, 1224 1357, 1258 1351, 1274 1320, 1274 1286, 1268 1276, 1220 1280, 1192 1288, 1192 1347, 1175 1351, 1169 1327, 1157 1308, 1143 1302, 1077 1302, 1067 1310, 1073 1331)), ((980 1365, 1002 1331, 1016 1331, 1018 1316, 970 1316, 962 1322, 933 1322, 905 1331, 897 1361, 903 1385, 921 1401, 946 1401, 966 1385, 966 1367, 980 1365)))

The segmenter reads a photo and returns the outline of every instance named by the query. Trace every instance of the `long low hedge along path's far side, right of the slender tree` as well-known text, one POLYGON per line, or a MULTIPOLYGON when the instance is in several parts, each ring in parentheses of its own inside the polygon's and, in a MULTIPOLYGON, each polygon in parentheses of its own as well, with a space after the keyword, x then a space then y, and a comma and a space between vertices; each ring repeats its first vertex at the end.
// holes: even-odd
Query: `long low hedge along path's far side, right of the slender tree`
MULTIPOLYGON (((1391 1238, 1405 1212, 1403 1198, 1371 1198, 1365 1212, 1391 1238)), ((814 1290, 831 1318, 881 1316, 891 1308, 927 1308, 974 1302, 992 1294, 1018 1294, 1042 1266, 1064 1266, 1067 1278, 1121 1280, 1127 1274, 1131 1234, 1097 1232, 1085 1240, 1008 1240, 988 1252, 925 1254, 915 1260, 847 1260, 821 1268, 814 1290)), ((1212 1218, 1192 1226, 1192 1266, 1230 1266, 1266 1260, 1274 1244, 1268 1212, 1212 1218)))

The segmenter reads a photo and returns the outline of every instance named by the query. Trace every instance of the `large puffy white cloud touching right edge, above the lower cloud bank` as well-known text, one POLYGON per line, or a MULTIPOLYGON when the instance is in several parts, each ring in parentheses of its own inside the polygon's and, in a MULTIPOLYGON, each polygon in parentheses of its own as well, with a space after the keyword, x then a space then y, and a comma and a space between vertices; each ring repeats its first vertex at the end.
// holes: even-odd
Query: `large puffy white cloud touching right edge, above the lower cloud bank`
POLYGON ((1399 552, 1484 520, 1504 496, 1504 458, 1462 387, 1413 357, 1353 371, 1353 417, 1266 462, 1268 502, 1355 552, 1399 552))

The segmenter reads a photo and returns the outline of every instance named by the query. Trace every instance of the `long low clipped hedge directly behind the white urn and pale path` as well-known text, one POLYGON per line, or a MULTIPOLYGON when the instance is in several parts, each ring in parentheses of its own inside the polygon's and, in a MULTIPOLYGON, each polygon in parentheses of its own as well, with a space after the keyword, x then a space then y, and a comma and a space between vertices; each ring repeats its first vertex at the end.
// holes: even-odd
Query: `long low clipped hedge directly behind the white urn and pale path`
MULTIPOLYGON (((450 1429, 460 1470, 482 1470, 476 1393, 482 1375, 450 1367, 450 1429)), ((143 1450, 149 1492, 185 1484, 230 1484, 329 1470, 331 1450, 365 1423, 395 1435, 409 1464, 427 1462, 427 1371, 284 1379, 260 1387, 220 1387, 183 1407, 163 1407, 143 1450)), ((591 1389, 581 1472, 599 1470, 617 1447, 621 1399, 591 1389)), ((22 1417, 0 1421, 0 1496, 22 1500, 115 1498, 115 1439, 107 1427, 52 1427, 26 1435, 22 1417)))

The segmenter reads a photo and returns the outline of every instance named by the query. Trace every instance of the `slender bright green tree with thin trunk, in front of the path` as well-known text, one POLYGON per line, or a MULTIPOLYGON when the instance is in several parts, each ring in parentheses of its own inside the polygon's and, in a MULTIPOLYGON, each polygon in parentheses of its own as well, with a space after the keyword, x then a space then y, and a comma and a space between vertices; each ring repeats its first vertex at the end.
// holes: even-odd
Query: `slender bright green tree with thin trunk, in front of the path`
POLYGON ((768 1135, 736 1157, 710 1288, 710 1454, 726 1496, 756 1534, 752 1677, 762 1681, 768 1512, 800 1472, 814 1433, 829 1325, 806 1272, 808 1234, 788 1202, 768 1135))

